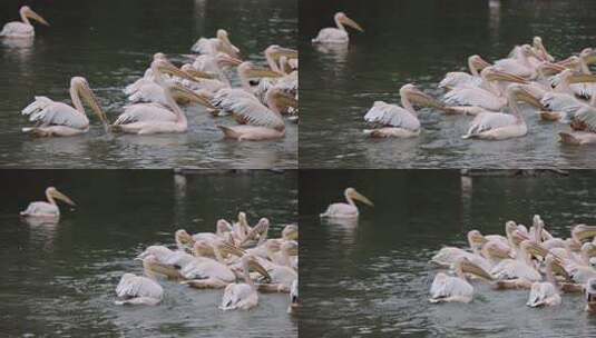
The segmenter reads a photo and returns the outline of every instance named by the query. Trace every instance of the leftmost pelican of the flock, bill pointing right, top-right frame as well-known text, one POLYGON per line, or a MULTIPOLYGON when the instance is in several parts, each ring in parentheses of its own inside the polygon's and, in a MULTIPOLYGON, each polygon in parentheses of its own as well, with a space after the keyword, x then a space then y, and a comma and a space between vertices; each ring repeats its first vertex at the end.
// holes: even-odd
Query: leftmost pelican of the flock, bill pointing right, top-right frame
POLYGON ((413 84, 400 88, 401 106, 375 101, 364 116, 369 123, 380 125, 377 129, 365 129, 364 135, 373 138, 411 138, 420 135, 420 121, 413 105, 443 109, 443 105, 423 93, 413 84), (413 105, 412 105, 413 103, 413 105))

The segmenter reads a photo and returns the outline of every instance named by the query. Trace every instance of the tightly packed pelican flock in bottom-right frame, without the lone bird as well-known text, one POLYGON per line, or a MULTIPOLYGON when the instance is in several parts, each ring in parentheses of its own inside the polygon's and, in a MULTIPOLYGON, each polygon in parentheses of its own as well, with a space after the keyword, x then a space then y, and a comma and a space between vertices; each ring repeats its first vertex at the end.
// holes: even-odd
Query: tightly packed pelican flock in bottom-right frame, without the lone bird
POLYGON ((450 272, 438 272, 430 287, 431 302, 473 299, 473 284, 497 290, 529 290, 527 306, 558 306, 561 296, 583 292, 585 309, 596 311, 596 227, 577 225, 569 238, 554 237, 535 215, 528 230, 507 221, 505 236, 468 232, 469 249, 444 247, 431 262, 450 272))

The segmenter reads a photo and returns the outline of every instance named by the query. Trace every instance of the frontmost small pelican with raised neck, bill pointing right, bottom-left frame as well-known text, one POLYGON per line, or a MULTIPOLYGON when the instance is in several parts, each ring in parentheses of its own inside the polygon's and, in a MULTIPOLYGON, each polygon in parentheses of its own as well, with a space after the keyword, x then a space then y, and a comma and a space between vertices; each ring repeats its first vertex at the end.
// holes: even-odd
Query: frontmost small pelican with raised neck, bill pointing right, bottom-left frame
POLYGON ((241 262, 244 282, 233 282, 225 288, 222 305, 219 306, 224 311, 236 309, 248 310, 258 304, 258 294, 256 291, 256 286, 248 274, 248 268, 252 267, 265 278, 268 278, 267 271, 256 262, 254 257, 245 255, 241 258, 241 262))

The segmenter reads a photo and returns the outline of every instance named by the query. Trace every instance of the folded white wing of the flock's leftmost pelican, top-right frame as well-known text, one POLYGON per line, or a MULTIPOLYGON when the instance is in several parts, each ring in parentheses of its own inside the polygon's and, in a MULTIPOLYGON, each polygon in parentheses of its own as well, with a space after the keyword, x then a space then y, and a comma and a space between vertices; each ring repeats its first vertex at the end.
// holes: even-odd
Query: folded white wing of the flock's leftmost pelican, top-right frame
POLYGON ((420 129, 420 121, 416 116, 399 106, 388 105, 383 101, 374 102, 364 116, 364 120, 371 123, 400 127, 408 130, 420 129))

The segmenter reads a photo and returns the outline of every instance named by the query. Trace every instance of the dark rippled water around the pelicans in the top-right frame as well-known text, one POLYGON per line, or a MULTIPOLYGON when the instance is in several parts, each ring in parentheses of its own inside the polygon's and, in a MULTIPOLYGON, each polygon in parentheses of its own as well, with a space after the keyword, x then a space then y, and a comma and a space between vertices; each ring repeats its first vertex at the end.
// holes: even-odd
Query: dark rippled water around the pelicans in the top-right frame
POLYGON ((596 2, 579 1, 301 1, 301 166, 305 168, 593 168, 593 147, 558 142, 565 125, 525 112, 528 136, 500 142, 462 140, 469 117, 424 109, 419 138, 372 140, 364 113, 377 100, 399 102, 399 88, 417 84, 433 97, 467 58, 507 56, 541 36, 557 59, 593 47, 596 2), (365 30, 348 49, 312 46, 342 10, 365 30))

